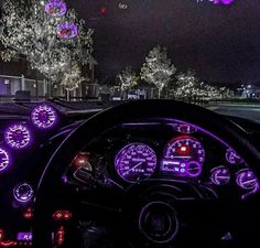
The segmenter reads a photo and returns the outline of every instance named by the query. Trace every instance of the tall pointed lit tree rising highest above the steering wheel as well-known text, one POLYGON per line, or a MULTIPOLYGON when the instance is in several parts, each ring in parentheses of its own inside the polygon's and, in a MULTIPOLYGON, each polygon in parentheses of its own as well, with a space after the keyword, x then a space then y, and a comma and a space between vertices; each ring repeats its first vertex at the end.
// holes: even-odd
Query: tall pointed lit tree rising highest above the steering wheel
POLYGON ((154 84, 159 89, 159 98, 164 86, 169 84, 176 68, 167 58, 165 47, 155 46, 145 57, 145 63, 141 68, 141 78, 149 84, 154 84))

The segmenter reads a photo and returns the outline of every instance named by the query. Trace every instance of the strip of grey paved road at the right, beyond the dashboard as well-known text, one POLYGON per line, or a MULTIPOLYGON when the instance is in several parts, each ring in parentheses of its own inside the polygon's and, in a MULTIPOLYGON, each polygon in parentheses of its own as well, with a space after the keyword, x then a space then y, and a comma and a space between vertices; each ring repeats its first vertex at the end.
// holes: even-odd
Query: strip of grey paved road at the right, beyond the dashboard
POLYGON ((260 106, 216 105, 216 106, 210 106, 208 108, 213 111, 220 114, 220 115, 237 116, 237 117, 242 117, 242 118, 260 121, 260 106))

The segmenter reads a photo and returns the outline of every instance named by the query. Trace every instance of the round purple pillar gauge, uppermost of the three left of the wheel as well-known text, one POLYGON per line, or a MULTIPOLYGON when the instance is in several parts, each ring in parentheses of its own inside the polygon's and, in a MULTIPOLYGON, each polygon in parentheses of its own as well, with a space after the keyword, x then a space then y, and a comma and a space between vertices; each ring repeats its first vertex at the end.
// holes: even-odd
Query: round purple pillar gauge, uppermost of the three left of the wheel
POLYGON ((57 112, 50 105, 40 105, 32 110, 31 120, 39 129, 51 129, 57 122, 57 112))

